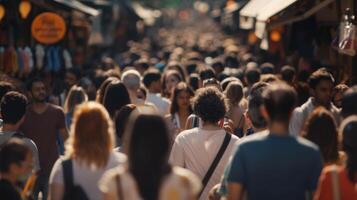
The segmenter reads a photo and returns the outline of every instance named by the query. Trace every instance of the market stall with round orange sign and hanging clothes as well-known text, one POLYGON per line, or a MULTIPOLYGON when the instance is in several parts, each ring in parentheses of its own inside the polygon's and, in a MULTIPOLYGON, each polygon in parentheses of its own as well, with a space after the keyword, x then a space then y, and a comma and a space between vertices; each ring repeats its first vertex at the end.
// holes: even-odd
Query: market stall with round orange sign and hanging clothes
POLYGON ((79 1, 0 2, 0 70, 25 79, 39 71, 60 72, 80 66, 90 17, 96 15, 96 9, 79 1))

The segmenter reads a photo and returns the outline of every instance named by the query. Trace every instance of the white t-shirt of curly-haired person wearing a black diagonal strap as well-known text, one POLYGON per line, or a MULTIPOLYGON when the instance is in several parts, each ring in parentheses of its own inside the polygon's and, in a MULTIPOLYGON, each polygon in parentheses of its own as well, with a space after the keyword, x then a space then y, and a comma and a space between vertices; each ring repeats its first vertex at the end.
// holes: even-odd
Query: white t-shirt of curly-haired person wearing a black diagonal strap
MULTIPOLYGON (((203 180, 222 146, 225 134, 226 132, 223 129, 204 130, 202 128, 194 128, 183 131, 175 139, 170 155, 170 163, 189 169, 203 180)), ((232 135, 232 139, 205 187, 200 200, 208 199, 208 193, 211 188, 220 182, 228 160, 233 154, 234 144, 238 140, 237 136, 232 135)))

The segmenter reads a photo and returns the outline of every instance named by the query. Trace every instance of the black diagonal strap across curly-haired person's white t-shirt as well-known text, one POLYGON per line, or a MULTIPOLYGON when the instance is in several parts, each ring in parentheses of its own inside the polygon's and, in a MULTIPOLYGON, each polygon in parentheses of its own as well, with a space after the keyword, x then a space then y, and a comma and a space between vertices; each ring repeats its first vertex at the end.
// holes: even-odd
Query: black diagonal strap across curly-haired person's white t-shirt
POLYGON ((229 144, 229 141, 231 140, 231 137, 232 137, 232 135, 229 134, 229 133, 226 133, 226 135, 224 136, 224 140, 223 140, 223 143, 221 145, 221 148, 219 149, 216 157, 214 158, 211 166, 208 168, 208 171, 206 172, 206 175, 204 176, 204 178, 202 180, 202 190, 199 193, 199 196, 201 196, 203 190, 206 188, 209 179, 211 178, 214 170, 216 169, 219 161, 221 160, 224 152, 226 151, 226 149, 228 147, 228 144, 229 144))

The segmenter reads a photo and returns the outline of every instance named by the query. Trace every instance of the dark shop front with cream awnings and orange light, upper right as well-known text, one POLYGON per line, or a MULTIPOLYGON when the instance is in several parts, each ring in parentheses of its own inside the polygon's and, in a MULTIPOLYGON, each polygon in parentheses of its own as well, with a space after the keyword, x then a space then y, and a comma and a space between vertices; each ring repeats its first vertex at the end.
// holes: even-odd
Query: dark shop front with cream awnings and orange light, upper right
MULTIPOLYGON (((330 68, 339 81, 356 83, 351 77, 356 55, 346 55, 336 44, 344 10, 356 4, 353 0, 251 0, 241 10, 240 27, 254 32, 256 44, 281 60, 296 54, 313 68, 330 68)), ((299 61, 292 64, 298 66, 299 61)))

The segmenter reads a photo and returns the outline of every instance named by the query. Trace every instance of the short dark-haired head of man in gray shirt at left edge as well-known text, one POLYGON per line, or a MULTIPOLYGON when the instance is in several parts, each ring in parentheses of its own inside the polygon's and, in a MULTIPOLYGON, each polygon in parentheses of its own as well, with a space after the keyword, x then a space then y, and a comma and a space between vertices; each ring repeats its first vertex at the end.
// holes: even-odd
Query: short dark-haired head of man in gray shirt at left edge
POLYGON ((0 112, 4 124, 20 124, 26 113, 27 98, 25 95, 11 91, 1 99, 0 112))

